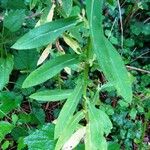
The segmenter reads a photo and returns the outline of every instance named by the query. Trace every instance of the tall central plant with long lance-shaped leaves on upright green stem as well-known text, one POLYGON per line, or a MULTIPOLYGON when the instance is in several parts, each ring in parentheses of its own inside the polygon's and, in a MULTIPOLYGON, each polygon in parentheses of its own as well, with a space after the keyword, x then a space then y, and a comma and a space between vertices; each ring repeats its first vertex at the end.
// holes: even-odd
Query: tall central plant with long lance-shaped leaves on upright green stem
MULTIPOLYGON (((69 140, 71 135, 79 130, 79 122, 85 120, 86 123, 80 124, 86 127, 85 132, 85 149, 107 149, 106 140, 104 134, 110 133, 112 124, 105 114, 105 112, 95 107, 95 102, 92 102, 92 98, 87 96, 87 90, 89 86, 89 69, 93 67, 90 65, 90 58, 96 55, 100 69, 104 72, 108 83, 112 84, 117 89, 119 95, 128 103, 132 100, 131 81, 122 62, 121 56, 117 53, 112 44, 105 38, 102 29, 102 1, 86 1, 86 11, 88 14, 88 26, 89 26, 89 40, 87 37, 88 45, 84 50, 81 48, 79 55, 63 54, 49 60, 42 66, 26 78, 23 83, 23 88, 32 87, 43 83, 56 74, 58 74, 63 68, 71 67, 72 65, 83 65, 79 72, 79 79, 73 92, 68 96, 67 101, 62 107, 58 119, 56 121, 54 139, 58 139, 56 143, 56 150, 63 147, 65 142, 69 140), (93 11, 94 10, 94 11, 93 11), (100 12, 99 12, 100 10, 100 12), (79 102, 82 104, 82 109, 76 109, 79 102), (75 111, 76 114, 74 115, 75 111), (80 112, 80 115, 77 115, 80 112), (84 112, 84 113, 82 113, 84 112), (82 115, 81 115, 82 114, 82 115), (77 116, 76 116, 77 115, 77 116)), ((68 14, 69 15, 69 14, 68 14)), ((78 23, 82 23, 84 26, 84 20, 86 18, 73 18, 60 19, 50 23, 41 25, 20 38, 13 46, 13 49, 32 49, 52 44, 66 30, 68 34, 69 29, 76 28, 78 23)), ((93 62, 91 62, 93 63, 93 62)), ((108 84, 106 83, 106 84, 108 84)), ((42 91, 45 93, 45 91, 42 91)), ((36 100, 42 99, 42 94, 39 93, 36 100)), ((49 96, 53 91, 47 92, 46 96, 49 96)), ((53 99, 57 100, 58 94, 62 99, 64 90, 59 91, 53 99)), ((35 94, 33 94, 35 95, 35 94)), ((30 96, 34 97, 34 96, 30 96)), ((52 100, 53 100, 52 99, 52 100)), ((51 101, 51 99, 48 99, 51 101)))

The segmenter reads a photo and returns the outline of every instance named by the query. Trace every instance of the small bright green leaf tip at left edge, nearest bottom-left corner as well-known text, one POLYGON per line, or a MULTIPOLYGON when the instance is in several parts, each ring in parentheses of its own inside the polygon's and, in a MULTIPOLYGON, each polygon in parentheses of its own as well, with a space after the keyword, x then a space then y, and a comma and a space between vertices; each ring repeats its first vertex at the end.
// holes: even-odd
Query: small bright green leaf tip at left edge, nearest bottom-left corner
POLYGON ((0 122, 0 142, 4 139, 5 135, 11 132, 12 129, 13 125, 11 125, 9 122, 0 122))

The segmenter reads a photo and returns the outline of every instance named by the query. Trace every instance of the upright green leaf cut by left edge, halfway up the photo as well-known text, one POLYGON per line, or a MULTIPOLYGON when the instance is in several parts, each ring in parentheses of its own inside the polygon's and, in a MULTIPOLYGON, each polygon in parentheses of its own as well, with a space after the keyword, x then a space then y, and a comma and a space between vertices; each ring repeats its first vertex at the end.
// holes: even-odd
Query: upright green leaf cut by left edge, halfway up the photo
POLYGON ((13 56, 8 55, 5 59, 0 58, 0 90, 4 88, 4 86, 9 81, 10 73, 13 69, 13 56))

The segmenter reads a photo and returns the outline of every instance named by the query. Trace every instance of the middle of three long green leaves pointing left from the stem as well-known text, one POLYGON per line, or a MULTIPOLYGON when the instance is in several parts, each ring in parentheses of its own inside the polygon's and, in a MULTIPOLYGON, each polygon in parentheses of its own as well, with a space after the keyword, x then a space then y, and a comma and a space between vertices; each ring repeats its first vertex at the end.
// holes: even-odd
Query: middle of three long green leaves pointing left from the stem
POLYGON ((22 87, 28 88, 43 83, 58 74, 63 68, 77 64, 79 62, 76 55, 62 55, 49 60, 41 67, 33 71, 24 81, 22 87))

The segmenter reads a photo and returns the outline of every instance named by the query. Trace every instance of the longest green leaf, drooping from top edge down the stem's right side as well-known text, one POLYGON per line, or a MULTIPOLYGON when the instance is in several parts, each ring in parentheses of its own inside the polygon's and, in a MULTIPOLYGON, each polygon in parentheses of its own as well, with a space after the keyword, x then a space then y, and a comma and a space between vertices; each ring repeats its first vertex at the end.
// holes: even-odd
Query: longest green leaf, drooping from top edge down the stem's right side
POLYGON ((118 94, 125 101, 132 101, 132 87, 128 72, 121 56, 104 37, 102 28, 102 0, 86 0, 87 15, 93 50, 99 66, 110 83, 114 84, 118 94))

